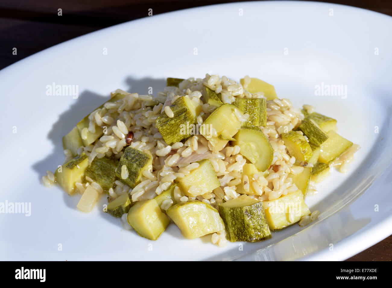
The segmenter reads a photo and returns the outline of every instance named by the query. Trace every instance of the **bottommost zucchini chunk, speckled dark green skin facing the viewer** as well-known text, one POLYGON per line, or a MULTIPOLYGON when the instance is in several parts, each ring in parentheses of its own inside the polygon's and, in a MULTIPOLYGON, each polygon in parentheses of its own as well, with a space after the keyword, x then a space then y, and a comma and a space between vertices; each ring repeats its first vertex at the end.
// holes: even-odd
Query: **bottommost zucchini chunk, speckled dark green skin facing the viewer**
POLYGON ((219 204, 227 240, 256 242, 271 238, 263 203, 243 195, 219 204))

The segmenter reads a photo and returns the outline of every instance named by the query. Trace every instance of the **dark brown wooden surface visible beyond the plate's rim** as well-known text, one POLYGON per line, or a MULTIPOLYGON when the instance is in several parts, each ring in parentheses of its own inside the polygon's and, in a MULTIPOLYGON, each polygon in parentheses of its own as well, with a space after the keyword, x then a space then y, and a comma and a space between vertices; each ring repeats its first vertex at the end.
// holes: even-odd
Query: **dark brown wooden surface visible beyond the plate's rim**
MULTIPOLYGON (((0 69, 31 54, 111 25, 203 5, 216 0, 0 0, 0 69), (58 16, 58 9, 62 16, 58 16), (18 54, 13 55, 16 47, 18 54)), ((356 6, 392 16, 392 0, 321 1, 356 6)), ((391 36, 391 35, 389 35, 391 36)), ((348 261, 391 261, 392 235, 348 261)))

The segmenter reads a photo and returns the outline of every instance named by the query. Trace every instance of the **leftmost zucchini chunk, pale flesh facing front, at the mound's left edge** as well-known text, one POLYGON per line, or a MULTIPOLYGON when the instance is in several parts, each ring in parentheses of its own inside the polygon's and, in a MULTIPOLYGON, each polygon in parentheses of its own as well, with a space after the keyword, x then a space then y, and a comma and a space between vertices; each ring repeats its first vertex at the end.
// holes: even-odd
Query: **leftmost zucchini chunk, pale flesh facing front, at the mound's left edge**
POLYGON ((75 183, 82 181, 87 166, 89 166, 89 158, 83 152, 80 156, 63 164, 61 172, 59 172, 60 168, 57 169, 54 172, 54 176, 56 177, 57 183, 63 187, 65 192, 72 196, 76 192, 75 183))

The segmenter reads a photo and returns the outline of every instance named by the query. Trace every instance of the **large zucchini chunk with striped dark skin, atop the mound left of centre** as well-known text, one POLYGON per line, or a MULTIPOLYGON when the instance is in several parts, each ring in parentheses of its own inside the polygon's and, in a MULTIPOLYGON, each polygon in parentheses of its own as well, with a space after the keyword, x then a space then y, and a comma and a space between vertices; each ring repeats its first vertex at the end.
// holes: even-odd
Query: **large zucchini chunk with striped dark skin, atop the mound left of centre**
POLYGON ((163 111, 155 121, 155 127, 158 128, 168 145, 189 138, 192 135, 189 127, 197 124, 196 117, 201 112, 201 105, 195 104, 185 96, 174 101, 170 108, 174 114, 173 118, 167 116, 163 111))

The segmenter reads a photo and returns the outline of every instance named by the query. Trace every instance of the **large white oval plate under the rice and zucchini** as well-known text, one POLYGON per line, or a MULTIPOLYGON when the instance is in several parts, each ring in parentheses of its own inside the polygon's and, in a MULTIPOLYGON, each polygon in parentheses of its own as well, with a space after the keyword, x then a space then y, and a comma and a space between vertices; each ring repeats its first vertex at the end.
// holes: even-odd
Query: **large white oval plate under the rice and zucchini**
POLYGON ((234 3, 116 25, 3 69, 0 202, 31 203, 31 216, 0 214, 0 259, 343 260, 377 243, 392 233, 390 35, 391 17, 353 7, 234 3), (153 87, 156 94, 167 76, 206 72, 273 83, 279 97, 296 107, 316 106, 361 145, 349 172, 333 172, 319 194, 307 199, 311 210, 321 211, 318 221, 245 243, 243 250, 241 243, 218 248, 210 236, 183 239, 174 224, 154 242, 122 230, 119 219, 99 211, 104 199, 86 215, 76 209, 79 196, 41 185, 45 171, 64 160, 62 136, 109 92, 146 94, 153 87), (78 99, 47 96, 52 83, 79 85, 78 99), (321 83, 347 85, 347 98, 315 96, 321 83))

